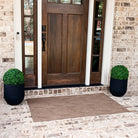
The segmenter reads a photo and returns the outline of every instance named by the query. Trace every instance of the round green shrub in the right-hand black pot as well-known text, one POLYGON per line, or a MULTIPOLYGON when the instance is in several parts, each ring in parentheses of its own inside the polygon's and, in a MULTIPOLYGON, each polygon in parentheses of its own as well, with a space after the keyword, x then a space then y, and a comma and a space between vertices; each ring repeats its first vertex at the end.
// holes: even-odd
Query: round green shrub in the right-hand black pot
POLYGON ((111 70, 111 78, 118 80, 126 80, 128 79, 129 71, 123 65, 117 65, 111 70))

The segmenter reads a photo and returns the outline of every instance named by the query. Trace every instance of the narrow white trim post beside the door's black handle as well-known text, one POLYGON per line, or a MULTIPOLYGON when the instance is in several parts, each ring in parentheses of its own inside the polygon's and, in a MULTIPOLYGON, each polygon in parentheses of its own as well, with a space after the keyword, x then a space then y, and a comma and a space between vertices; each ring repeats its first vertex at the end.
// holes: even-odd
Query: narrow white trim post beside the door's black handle
POLYGON ((38 0, 38 88, 42 88, 42 0, 38 0))

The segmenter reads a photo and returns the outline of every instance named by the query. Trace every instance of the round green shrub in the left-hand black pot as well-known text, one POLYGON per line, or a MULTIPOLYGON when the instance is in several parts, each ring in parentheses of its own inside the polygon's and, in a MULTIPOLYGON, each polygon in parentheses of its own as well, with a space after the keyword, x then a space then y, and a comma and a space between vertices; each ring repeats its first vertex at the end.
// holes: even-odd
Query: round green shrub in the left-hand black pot
POLYGON ((24 83, 24 75, 18 69, 9 69, 3 76, 4 84, 18 85, 24 83))

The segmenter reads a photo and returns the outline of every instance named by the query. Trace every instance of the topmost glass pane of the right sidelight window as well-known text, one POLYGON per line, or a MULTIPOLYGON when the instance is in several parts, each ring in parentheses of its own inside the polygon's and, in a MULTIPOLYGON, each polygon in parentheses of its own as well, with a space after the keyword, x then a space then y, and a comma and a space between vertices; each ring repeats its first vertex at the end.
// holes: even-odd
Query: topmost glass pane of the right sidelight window
POLYGON ((95 17, 102 17, 103 2, 96 2, 95 17))

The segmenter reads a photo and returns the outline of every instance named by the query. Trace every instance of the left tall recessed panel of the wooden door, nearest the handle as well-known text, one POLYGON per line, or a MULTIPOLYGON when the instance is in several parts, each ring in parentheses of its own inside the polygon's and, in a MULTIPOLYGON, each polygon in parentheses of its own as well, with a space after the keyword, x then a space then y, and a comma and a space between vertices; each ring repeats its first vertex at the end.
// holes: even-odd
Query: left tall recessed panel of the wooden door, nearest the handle
POLYGON ((48 14, 48 73, 62 73, 62 14, 48 14))

